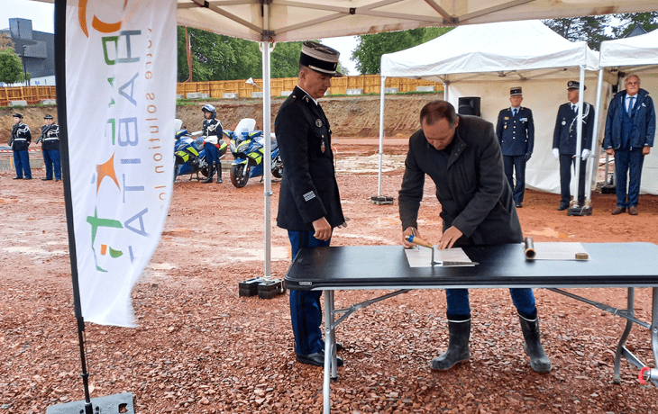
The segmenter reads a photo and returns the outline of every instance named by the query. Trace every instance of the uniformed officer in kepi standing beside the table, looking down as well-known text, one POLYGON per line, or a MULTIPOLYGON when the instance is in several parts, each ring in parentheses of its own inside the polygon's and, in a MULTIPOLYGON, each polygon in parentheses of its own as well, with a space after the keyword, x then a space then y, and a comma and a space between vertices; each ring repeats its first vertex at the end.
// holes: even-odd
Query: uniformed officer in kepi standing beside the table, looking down
MULTIPOLYGON (((331 86, 338 51, 305 41, 298 84, 277 114, 277 141, 283 165, 277 225, 288 229, 295 257, 301 247, 329 246, 335 227, 344 224, 334 172, 329 121, 317 100, 331 86)), ((302 364, 324 366, 320 291, 290 291, 295 353, 302 364)), ((337 348, 340 349, 337 345, 337 348)), ((343 365, 338 358, 337 365, 343 365)))

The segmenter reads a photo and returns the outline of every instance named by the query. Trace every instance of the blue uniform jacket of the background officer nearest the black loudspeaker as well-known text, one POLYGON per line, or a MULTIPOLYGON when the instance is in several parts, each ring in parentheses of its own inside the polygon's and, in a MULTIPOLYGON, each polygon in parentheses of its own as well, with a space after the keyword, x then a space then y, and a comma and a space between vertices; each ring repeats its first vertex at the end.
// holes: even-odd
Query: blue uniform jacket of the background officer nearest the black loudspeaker
POLYGON ((516 116, 510 108, 498 112, 496 136, 504 156, 522 156, 533 152, 535 123, 533 112, 520 106, 516 116))

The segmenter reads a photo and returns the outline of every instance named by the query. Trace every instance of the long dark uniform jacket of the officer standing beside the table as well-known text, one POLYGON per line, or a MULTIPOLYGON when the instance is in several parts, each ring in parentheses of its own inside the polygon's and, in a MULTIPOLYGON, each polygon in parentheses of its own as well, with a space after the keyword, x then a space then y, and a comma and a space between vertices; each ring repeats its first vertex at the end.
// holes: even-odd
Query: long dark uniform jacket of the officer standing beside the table
POLYGON ((277 225, 312 231, 325 218, 331 227, 345 221, 334 171, 331 128, 319 104, 296 86, 281 105, 277 141, 283 160, 277 225))

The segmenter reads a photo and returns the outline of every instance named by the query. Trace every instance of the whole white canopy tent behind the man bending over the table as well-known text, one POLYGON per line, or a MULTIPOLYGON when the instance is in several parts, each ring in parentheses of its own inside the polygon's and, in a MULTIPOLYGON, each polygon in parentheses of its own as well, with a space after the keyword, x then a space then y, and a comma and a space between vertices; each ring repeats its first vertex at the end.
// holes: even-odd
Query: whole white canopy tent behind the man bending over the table
MULTIPOLYGON (((445 100, 455 107, 460 96, 480 96, 482 118, 494 124, 498 111, 509 105, 509 88, 522 86, 523 105, 533 110, 535 118, 535 148, 525 183, 559 193, 559 168, 551 155, 556 113, 567 101, 566 83, 570 79, 580 78, 584 101, 595 97, 596 74, 586 77, 585 71, 597 70, 597 60, 586 42, 566 40, 539 21, 486 23, 461 26, 415 48, 383 55, 381 76, 443 82, 445 100), (589 89, 584 92, 586 81, 589 89)), ((383 94, 381 113, 380 139, 383 94)), ((576 193, 575 187, 572 193, 576 193)))

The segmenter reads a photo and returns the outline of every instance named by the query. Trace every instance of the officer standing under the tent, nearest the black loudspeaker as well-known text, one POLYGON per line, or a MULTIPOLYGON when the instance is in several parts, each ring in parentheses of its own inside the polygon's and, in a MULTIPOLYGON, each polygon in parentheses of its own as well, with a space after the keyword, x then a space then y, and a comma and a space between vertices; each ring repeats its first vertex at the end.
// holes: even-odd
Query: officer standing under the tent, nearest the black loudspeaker
POLYGON ((525 163, 533 155, 535 145, 535 121, 533 112, 521 106, 523 93, 520 86, 509 90, 509 102, 512 106, 498 112, 496 135, 503 151, 505 176, 509 186, 514 189, 516 208, 523 207, 525 193, 525 163), (516 185, 512 173, 516 173, 516 185))

